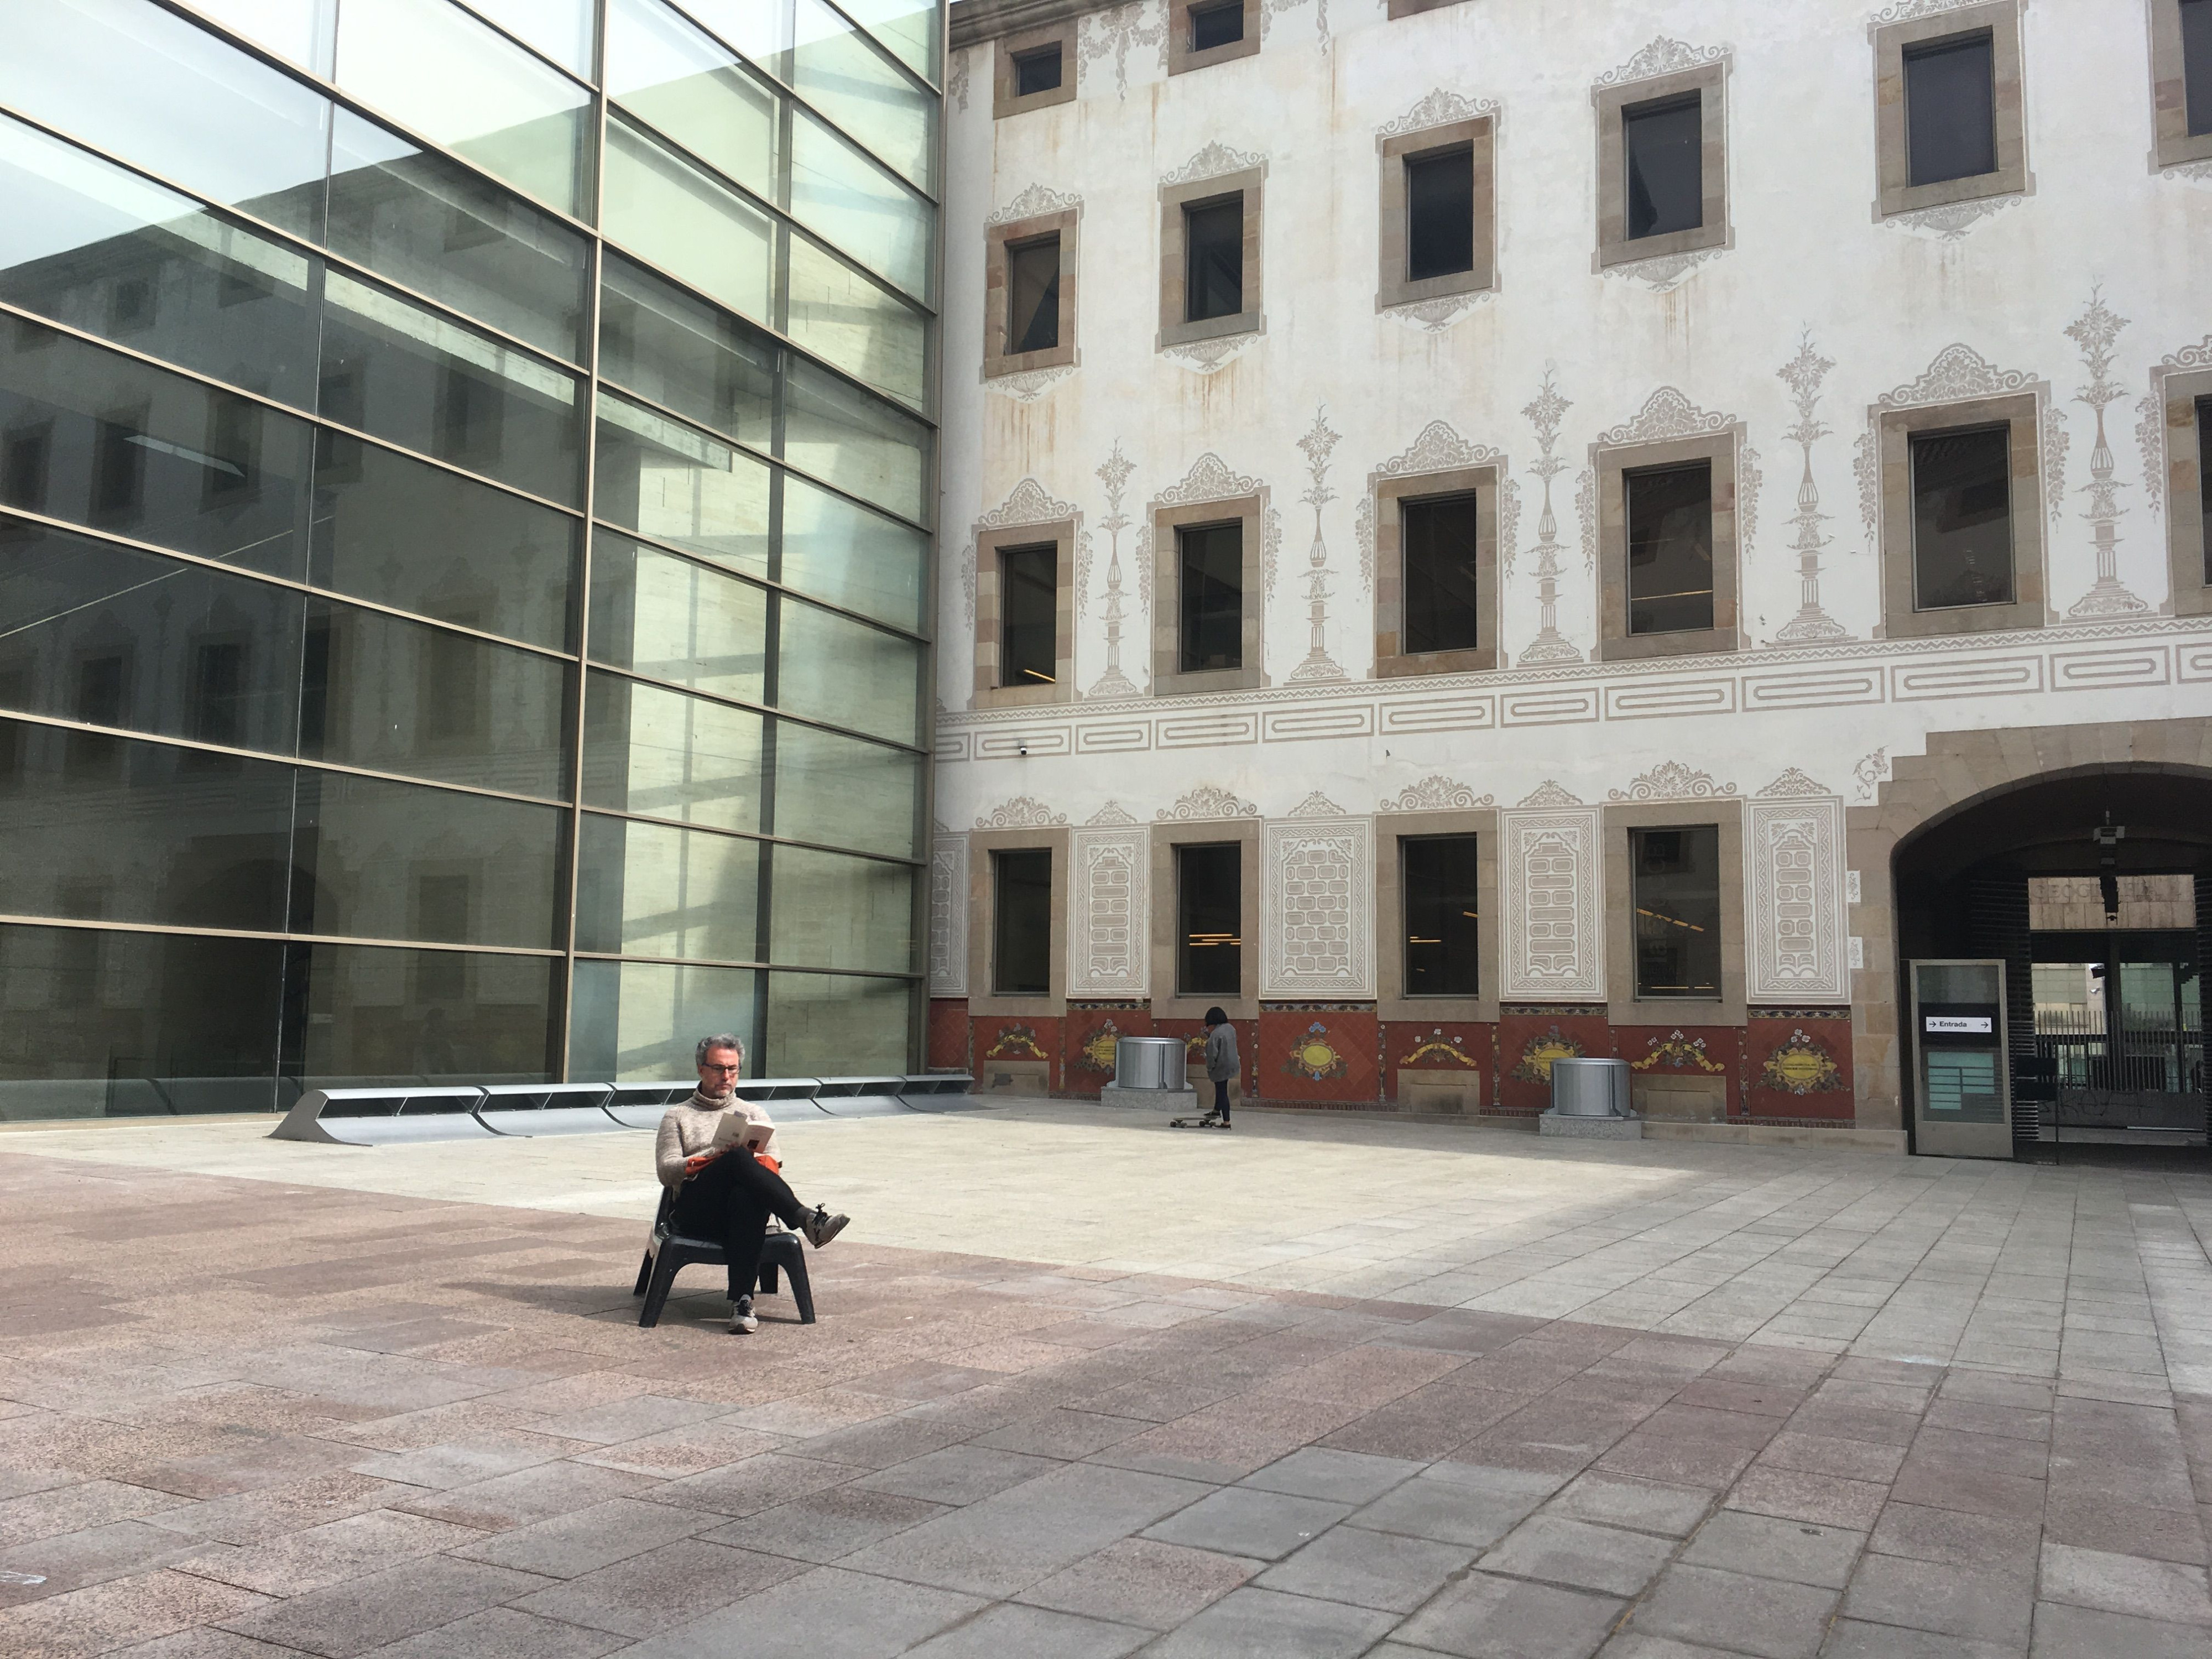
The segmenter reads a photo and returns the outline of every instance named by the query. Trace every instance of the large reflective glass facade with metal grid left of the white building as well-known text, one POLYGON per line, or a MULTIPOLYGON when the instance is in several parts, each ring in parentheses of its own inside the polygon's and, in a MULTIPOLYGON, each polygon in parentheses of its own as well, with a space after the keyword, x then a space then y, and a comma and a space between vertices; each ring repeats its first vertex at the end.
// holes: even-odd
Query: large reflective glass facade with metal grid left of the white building
POLYGON ((0 1117, 914 1068, 938 0, 195 11, 0 0, 0 1117))

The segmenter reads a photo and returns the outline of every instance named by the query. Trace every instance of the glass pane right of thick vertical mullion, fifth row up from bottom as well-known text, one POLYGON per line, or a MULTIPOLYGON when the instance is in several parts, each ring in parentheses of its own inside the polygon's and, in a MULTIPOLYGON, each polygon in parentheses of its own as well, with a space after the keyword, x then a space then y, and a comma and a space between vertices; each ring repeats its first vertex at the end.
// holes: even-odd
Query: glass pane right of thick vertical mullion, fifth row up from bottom
POLYGON ((599 398, 599 518, 745 575, 768 575, 768 462, 697 427, 599 398))

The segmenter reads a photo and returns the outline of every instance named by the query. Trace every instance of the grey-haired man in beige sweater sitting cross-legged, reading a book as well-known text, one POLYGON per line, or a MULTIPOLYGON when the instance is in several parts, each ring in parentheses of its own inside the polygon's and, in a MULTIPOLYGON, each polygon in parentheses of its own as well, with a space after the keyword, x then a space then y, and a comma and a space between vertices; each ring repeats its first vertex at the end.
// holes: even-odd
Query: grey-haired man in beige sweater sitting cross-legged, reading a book
POLYGON ((677 1194, 675 1225, 692 1239, 721 1239, 730 1252, 730 1329, 752 1334, 752 1285, 761 1276, 761 1239, 776 1217, 821 1250, 849 1217, 807 1210, 783 1183, 776 1126, 768 1110, 739 1099, 745 1044, 730 1033, 701 1037, 699 1091, 670 1106, 653 1148, 661 1186, 677 1194))

